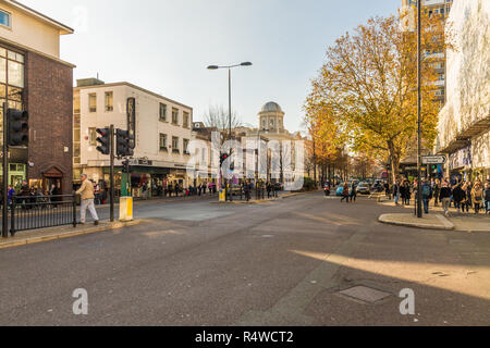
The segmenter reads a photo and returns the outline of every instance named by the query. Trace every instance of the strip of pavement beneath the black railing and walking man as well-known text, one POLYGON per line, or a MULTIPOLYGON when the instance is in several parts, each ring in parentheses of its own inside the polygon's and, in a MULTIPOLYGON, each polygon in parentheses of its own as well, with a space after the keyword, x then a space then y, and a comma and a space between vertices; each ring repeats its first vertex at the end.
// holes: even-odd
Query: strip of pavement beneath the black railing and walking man
POLYGON ((28 244, 35 244, 47 240, 62 239, 69 238, 79 235, 93 234, 97 232, 123 228, 127 226, 134 226, 139 223, 143 223, 145 220, 135 220, 131 222, 110 222, 110 221, 100 221, 99 225, 86 224, 86 225, 77 225, 73 227, 72 225, 60 226, 60 227, 50 227, 50 228, 40 228, 33 229, 26 232, 19 232, 14 237, 9 238, 0 238, 0 249, 19 247, 28 244))

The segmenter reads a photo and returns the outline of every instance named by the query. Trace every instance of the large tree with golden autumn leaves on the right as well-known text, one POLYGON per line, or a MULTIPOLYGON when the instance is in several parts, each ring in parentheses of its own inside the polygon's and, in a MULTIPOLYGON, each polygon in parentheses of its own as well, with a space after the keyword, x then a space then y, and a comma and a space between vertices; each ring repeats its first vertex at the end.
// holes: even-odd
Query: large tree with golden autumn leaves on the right
MULTIPOLYGON (((417 37, 402 29, 402 20, 373 17, 340 37, 328 48, 306 101, 307 109, 327 110, 316 116, 335 125, 342 134, 338 142, 353 151, 387 156, 393 178, 417 128, 417 37)), ((443 22, 425 15, 422 28, 424 52, 443 51, 443 22)), ((422 57, 422 138, 431 147, 439 112, 438 75, 431 55, 422 57)))

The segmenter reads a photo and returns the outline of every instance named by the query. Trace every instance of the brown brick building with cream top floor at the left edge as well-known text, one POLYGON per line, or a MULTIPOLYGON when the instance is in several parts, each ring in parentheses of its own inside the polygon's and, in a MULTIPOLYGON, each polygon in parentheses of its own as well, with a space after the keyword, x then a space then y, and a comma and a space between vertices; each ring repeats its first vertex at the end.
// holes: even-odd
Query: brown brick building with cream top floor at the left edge
POLYGON ((64 24, 0 0, 0 103, 29 113, 28 148, 10 149, 9 184, 15 187, 27 181, 72 191, 74 65, 60 59, 60 36, 69 34, 64 24))

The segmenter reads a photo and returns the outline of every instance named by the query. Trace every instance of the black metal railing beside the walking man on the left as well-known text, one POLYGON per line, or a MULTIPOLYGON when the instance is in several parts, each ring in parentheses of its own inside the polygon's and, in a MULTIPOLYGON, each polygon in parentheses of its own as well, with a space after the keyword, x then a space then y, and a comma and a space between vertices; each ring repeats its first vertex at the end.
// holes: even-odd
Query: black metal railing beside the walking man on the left
POLYGON ((76 227, 76 196, 12 197, 10 233, 62 225, 76 227))

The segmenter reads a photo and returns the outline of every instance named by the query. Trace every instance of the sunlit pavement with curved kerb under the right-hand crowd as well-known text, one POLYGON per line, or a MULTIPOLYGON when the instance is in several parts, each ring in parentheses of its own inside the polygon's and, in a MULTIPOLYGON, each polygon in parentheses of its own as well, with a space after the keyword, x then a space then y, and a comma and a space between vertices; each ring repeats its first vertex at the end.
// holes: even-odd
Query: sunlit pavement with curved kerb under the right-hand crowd
POLYGON ((452 229, 460 232, 490 232, 490 215, 480 212, 478 215, 475 213, 457 213, 455 208, 450 208, 449 216, 444 216, 444 210, 441 206, 433 207, 433 201, 429 209, 429 214, 424 214, 424 217, 418 219, 415 215, 414 200, 409 206, 395 206, 393 201, 388 200, 385 196, 382 196, 378 201, 379 204, 387 207, 399 208, 403 213, 382 214, 379 216, 379 221, 385 224, 428 228, 428 229, 452 229))

